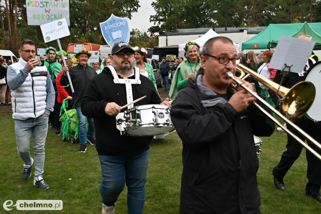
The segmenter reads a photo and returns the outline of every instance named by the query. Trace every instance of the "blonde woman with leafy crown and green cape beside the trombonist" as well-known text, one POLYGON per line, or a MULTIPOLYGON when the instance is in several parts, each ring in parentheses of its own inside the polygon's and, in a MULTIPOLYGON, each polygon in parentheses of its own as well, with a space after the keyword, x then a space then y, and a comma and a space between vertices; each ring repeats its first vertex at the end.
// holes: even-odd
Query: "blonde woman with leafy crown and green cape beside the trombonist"
POLYGON ((186 52, 187 61, 178 65, 174 76, 172 77, 172 85, 169 90, 169 97, 172 102, 175 100, 178 92, 182 90, 189 82, 189 79, 194 79, 198 69, 201 67, 200 63, 200 46, 188 41, 184 47, 186 52))

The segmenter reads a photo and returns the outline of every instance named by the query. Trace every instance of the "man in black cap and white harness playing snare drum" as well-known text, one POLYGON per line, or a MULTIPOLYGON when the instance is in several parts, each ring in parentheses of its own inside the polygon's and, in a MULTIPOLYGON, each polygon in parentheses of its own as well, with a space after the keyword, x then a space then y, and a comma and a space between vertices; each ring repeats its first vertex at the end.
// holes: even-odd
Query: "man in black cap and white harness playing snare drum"
POLYGON ((113 67, 106 66, 90 81, 81 103, 82 113, 94 118, 102 174, 102 213, 114 213, 115 202, 125 183, 128 187, 128 213, 143 213, 146 198, 149 143, 153 137, 121 135, 116 126, 116 116, 131 106, 120 108, 143 96, 146 98, 133 105, 170 106, 168 98, 161 103, 152 81, 133 69, 133 56, 134 50, 129 44, 116 43, 110 56, 113 67))

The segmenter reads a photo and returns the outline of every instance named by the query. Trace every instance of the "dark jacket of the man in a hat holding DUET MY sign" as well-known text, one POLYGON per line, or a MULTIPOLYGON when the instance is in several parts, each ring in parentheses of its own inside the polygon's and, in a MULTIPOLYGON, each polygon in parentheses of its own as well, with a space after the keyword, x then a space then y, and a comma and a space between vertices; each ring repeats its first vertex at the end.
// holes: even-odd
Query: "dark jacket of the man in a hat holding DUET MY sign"
MULTIPOLYGON (((74 107, 76 108, 80 106, 85 89, 91 79, 97 75, 97 72, 89 65, 82 67, 82 65, 78 64, 69 69, 69 75, 75 91, 73 94, 73 102, 74 107)), ((66 86, 68 84, 68 77, 61 75, 60 85, 66 86)))

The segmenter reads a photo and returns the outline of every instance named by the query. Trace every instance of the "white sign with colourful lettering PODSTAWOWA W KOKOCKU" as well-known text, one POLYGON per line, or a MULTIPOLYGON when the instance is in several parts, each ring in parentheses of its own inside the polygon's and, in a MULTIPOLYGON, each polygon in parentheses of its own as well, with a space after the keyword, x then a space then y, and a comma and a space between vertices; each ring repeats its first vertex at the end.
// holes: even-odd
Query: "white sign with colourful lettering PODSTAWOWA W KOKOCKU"
POLYGON ((28 25, 43 25, 65 18, 69 21, 69 0, 26 0, 28 25))

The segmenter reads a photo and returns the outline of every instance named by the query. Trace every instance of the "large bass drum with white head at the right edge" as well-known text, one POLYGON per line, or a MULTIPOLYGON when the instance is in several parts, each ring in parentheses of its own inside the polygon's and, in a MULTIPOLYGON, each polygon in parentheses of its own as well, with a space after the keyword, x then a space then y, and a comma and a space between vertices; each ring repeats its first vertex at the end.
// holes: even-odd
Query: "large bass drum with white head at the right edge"
POLYGON ((305 81, 312 82, 316 87, 316 96, 307 111, 306 116, 314 122, 321 122, 320 105, 321 105, 321 61, 313 64, 309 70, 305 81))

